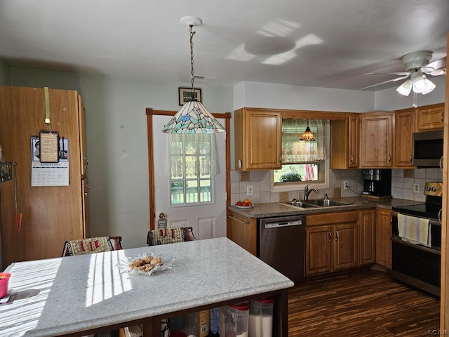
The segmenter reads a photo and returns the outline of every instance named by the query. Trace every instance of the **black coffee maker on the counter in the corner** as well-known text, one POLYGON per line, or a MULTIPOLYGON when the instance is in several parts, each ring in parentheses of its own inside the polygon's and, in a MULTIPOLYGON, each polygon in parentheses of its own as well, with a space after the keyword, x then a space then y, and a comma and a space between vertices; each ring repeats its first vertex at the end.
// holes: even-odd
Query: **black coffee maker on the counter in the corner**
POLYGON ((384 197, 391 195, 391 169, 363 169, 362 194, 384 197))

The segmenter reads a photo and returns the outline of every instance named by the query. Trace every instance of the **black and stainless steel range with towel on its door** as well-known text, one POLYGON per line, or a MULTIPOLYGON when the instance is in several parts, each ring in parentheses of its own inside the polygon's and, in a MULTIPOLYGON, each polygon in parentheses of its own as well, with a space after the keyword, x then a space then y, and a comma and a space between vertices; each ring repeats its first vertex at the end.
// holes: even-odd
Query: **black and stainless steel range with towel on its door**
POLYGON ((442 183, 426 183, 426 202, 393 207, 391 276, 440 296, 442 183))

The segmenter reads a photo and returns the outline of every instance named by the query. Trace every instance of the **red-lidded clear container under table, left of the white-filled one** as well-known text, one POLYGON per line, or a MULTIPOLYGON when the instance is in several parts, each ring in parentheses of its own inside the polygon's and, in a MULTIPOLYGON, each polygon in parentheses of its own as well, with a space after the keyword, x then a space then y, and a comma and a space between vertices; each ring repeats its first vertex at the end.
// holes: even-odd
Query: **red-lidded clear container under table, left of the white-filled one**
POLYGON ((220 308, 220 337, 248 337, 250 303, 236 303, 220 308))

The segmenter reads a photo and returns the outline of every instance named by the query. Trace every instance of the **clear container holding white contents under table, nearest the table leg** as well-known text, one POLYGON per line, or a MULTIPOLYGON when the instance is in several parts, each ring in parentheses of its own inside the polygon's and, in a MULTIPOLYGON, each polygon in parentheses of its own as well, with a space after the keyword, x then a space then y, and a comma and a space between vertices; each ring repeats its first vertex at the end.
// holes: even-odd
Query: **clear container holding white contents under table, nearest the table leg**
POLYGON ((273 304, 272 297, 251 300, 249 337, 273 336, 273 304))

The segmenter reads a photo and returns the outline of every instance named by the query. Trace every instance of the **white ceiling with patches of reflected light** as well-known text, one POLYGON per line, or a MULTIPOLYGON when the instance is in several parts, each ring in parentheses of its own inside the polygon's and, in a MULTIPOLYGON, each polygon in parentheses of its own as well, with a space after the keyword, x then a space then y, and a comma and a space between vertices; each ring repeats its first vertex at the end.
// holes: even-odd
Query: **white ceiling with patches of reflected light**
MULTIPOLYGON (((260 81, 358 90, 403 72, 401 56, 445 57, 448 0, 0 0, 11 67, 234 86, 260 81)), ((402 81, 377 86, 376 91, 402 81)))

